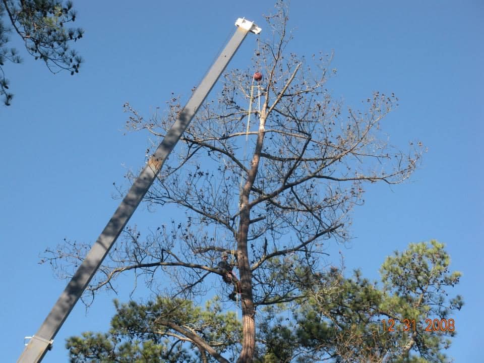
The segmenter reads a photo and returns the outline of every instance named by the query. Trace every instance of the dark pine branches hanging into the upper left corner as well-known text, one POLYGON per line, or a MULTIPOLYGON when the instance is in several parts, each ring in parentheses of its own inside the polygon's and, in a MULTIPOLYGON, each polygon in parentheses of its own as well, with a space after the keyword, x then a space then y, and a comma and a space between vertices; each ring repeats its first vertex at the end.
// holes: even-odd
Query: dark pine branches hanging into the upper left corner
POLYGON ((9 35, 16 33, 25 44, 27 52, 45 62, 52 73, 66 70, 79 73, 81 56, 70 49, 71 42, 81 39, 81 28, 69 28, 76 20, 71 1, 59 0, 2 0, 0 2, 0 96, 10 105, 13 94, 5 78, 7 62, 21 63, 15 48, 9 47, 9 35), (8 24, 8 25, 6 25, 8 24))

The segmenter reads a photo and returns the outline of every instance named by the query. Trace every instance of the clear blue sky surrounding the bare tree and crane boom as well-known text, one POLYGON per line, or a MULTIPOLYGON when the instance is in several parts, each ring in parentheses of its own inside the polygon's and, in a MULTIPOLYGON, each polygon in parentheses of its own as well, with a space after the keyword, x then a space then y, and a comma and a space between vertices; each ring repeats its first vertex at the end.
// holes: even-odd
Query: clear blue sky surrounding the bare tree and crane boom
MULTIPOLYGON (((95 240, 118 203, 112 183, 122 185, 125 172, 144 163, 147 135, 123 135, 123 103, 149 116, 171 91, 186 99, 235 19, 264 27, 261 14, 273 4, 77 1, 76 23, 86 31, 76 45, 86 59, 79 75, 54 76, 24 52, 24 64, 5 68, 15 98, 0 107, 2 361, 18 358, 23 337, 35 333, 65 287, 37 264, 39 253, 65 237, 95 240)), ((484 325, 483 19, 481 0, 293 1, 290 15, 299 53, 334 50, 338 75, 327 86, 335 97, 357 105, 372 91, 394 92, 400 106, 385 126, 391 143, 421 140, 429 148, 411 181, 368 190, 354 211, 356 238, 338 248, 348 270, 377 278, 394 250, 432 238, 446 243, 451 268, 463 273, 453 293, 466 303, 454 316, 456 362, 484 361, 476 349, 484 325)), ((231 66, 249 67, 254 46, 249 36, 231 66)), ((132 223, 169 213, 141 208, 132 223)), ((97 299, 87 315, 78 305, 44 361, 67 361, 68 336, 105 331, 113 297, 97 299)))

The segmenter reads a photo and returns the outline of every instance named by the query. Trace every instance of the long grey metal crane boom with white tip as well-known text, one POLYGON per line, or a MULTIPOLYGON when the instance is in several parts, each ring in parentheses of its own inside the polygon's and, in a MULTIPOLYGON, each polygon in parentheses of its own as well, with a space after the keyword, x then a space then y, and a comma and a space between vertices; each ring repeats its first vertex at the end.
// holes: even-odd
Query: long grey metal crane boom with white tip
POLYGON ((245 19, 237 19, 238 26, 229 42, 222 50, 215 63, 212 65, 205 78, 195 89, 192 97, 180 111, 178 117, 164 137, 155 153, 133 183, 128 194, 117 207, 113 216, 99 235, 96 243, 92 246, 82 264, 68 283, 61 296, 57 299, 54 307, 40 326, 37 333, 32 337, 17 363, 37 363, 42 360, 47 350, 52 347, 53 338, 61 329, 64 321, 71 313, 74 305, 81 297, 85 288, 91 281, 102 261, 108 254, 123 228, 135 212, 141 200, 153 184, 166 158, 175 147, 181 134, 187 129, 195 113, 207 97, 208 93, 217 82, 223 70, 237 51, 249 31, 258 34, 261 29, 253 22, 245 19))

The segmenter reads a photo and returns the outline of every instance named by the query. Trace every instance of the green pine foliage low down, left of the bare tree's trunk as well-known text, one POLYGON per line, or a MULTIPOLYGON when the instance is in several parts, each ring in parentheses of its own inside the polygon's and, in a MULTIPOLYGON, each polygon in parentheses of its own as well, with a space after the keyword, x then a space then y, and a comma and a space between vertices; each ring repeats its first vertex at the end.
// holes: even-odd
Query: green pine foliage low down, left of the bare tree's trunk
POLYGON ((86 332, 68 339, 71 362, 212 362, 216 360, 184 332, 196 334, 217 353, 231 357, 241 339, 234 312, 222 312, 217 297, 205 308, 190 300, 165 297, 146 304, 115 300, 114 305, 116 314, 108 333, 86 332))

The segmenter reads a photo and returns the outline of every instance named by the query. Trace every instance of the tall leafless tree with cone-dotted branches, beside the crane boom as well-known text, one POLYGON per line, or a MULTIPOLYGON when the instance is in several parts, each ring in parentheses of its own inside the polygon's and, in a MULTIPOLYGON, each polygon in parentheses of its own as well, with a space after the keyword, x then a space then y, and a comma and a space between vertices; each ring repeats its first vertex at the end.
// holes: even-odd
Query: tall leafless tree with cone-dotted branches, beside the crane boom
MULTIPOLYGON (((157 287, 161 270, 171 281, 165 294, 205 295, 214 287, 210 276, 221 274, 220 254, 227 253, 240 278, 238 363, 252 362, 256 353, 256 308, 300 297, 297 286, 319 268, 324 241, 350 238, 350 211, 363 202, 365 184, 399 184, 421 156, 392 147, 381 134, 398 100, 393 94, 375 92, 365 110, 345 108, 325 88, 331 55, 287 51, 292 35, 285 5, 266 19, 270 38, 260 42, 253 68, 224 76, 218 98, 198 112, 147 194, 150 207, 175 205, 186 218, 146 238, 128 228, 88 289, 91 296, 114 289, 114 278, 128 270, 157 287), (254 81, 254 71, 264 79, 254 81), (246 129, 249 116, 257 127, 246 129)), ((149 120, 126 104, 129 128, 163 137, 180 110, 176 97, 168 104, 166 114, 149 120)), ((85 248, 67 244, 47 251, 45 260, 69 276, 59 258, 72 266, 85 248)))

